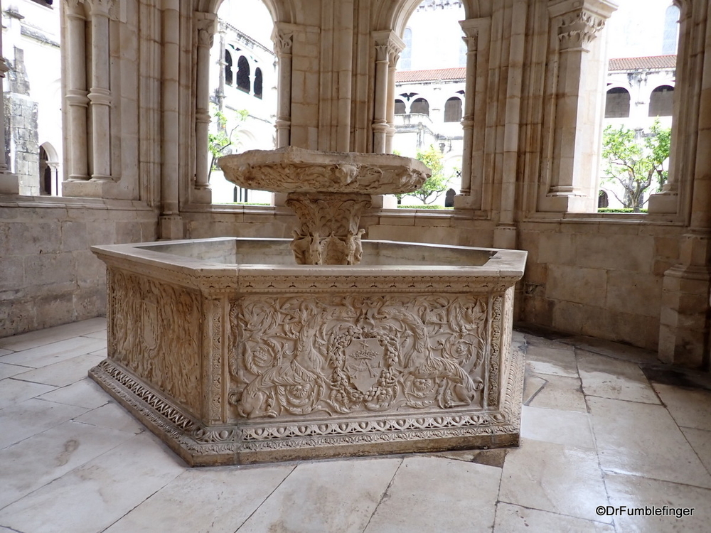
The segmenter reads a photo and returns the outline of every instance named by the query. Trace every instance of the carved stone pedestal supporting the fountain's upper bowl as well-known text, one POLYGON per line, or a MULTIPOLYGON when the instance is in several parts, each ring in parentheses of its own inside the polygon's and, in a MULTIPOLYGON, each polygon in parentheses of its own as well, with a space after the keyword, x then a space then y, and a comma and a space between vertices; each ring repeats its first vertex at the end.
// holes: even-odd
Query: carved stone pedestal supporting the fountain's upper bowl
POLYGON ((289 193, 286 205, 299 218, 291 247, 298 264, 358 264, 363 254, 358 230, 370 195, 289 193))

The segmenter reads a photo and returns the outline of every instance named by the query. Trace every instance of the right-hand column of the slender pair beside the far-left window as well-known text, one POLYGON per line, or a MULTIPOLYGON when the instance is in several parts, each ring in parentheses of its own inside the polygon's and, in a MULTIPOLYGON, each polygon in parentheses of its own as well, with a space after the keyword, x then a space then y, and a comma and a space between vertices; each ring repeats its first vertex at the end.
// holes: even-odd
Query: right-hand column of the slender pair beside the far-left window
POLYGON ((109 90, 109 9, 113 0, 88 0, 91 4, 92 86, 87 95, 92 117, 92 180, 111 179, 109 144, 111 91, 109 90))

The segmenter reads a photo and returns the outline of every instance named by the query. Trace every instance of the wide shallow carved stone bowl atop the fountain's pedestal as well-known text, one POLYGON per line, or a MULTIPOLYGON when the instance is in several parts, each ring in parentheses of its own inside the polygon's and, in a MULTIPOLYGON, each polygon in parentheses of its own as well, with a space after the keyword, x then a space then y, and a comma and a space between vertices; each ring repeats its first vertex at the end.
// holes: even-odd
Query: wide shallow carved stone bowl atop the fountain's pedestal
POLYGON ((294 146, 224 156, 218 164, 235 185, 273 193, 410 193, 432 175, 422 161, 409 157, 294 146))

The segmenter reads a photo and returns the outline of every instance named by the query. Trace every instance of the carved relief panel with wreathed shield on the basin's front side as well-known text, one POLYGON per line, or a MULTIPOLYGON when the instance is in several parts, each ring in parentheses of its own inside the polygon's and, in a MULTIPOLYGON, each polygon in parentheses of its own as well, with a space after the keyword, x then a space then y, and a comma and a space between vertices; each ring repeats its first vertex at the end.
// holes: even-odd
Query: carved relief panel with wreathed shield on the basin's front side
POLYGON ((486 298, 246 297, 230 404, 249 418, 483 407, 486 298))

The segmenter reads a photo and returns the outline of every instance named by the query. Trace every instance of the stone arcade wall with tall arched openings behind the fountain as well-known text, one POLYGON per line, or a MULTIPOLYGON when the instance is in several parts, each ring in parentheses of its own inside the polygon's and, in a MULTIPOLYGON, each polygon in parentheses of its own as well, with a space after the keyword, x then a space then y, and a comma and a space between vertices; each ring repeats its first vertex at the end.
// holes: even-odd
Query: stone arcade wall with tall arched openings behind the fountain
MULTIPOLYGON (((92 244, 290 235, 278 196, 262 207, 211 202, 207 72, 219 3, 63 0, 64 197, 20 196, 14 176, 0 177, 0 335, 104 313, 92 244)), ((389 151, 397 59, 419 0, 265 3, 279 61, 278 146, 389 151)), ((708 367, 710 3, 678 2, 673 154, 646 215, 594 212, 614 4, 464 4, 455 209, 375 201, 367 237, 526 249, 518 320, 708 367)))

